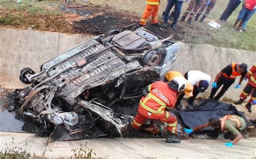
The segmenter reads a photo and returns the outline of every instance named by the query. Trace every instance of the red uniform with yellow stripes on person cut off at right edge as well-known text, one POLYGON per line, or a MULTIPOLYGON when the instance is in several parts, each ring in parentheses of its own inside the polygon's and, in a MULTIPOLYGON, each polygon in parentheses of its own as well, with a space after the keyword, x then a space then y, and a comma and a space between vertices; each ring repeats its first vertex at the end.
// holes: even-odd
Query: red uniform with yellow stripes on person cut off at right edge
POLYGON ((247 72, 246 78, 248 78, 248 83, 244 90, 242 90, 240 98, 245 100, 251 94, 249 103, 252 103, 256 99, 256 64, 247 72))

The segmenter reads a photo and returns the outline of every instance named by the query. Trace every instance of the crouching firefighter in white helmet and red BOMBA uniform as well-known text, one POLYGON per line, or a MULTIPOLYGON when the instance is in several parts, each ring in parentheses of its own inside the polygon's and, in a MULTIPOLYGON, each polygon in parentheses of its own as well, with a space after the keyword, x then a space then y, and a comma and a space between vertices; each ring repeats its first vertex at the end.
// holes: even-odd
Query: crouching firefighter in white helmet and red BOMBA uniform
POLYGON ((182 76, 174 77, 170 83, 157 81, 147 86, 149 93, 140 99, 138 114, 132 121, 132 128, 140 129, 147 119, 166 122, 166 142, 180 143, 180 140, 174 135, 177 129, 176 115, 166 109, 175 106, 177 92, 184 91, 185 88, 186 79, 182 76))

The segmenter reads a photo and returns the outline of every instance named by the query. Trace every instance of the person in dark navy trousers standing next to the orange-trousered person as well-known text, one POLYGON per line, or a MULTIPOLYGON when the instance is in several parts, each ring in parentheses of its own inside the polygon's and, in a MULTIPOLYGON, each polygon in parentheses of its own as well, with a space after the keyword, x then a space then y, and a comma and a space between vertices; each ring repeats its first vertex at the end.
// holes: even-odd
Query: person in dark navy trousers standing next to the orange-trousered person
POLYGON ((164 13, 164 27, 168 26, 168 17, 169 17, 169 13, 170 10, 172 9, 173 5, 174 6, 174 15, 173 15, 173 22, 172 22, 172 28, 173 30, 177 30, 177 23, 178 23, 178 19, 179 19, 179 15, 181 12, 181 7, 183 5, 183 1, 184 0, 169 0, 165 9, 165 13, 164 13))

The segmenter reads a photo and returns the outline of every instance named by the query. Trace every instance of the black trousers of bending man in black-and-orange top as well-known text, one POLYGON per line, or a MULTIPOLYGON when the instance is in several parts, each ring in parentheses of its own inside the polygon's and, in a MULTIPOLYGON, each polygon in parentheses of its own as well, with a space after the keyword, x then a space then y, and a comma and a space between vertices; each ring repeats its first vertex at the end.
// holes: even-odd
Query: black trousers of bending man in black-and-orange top
POLYGON ((224 93, 228 90, 228 88, 230 88, 230 86, 234 83, 234 81, 235 80, 226 79, 225 77, 220 76, 220 78, 216 82, 217 88, 212 88, 211 90, 210 99, 219 100, 224 95, 224 93), (218 95, 213 98, 213 96, 218 91, 221 85, 223 85, 223 88, 221 88, 218 95))

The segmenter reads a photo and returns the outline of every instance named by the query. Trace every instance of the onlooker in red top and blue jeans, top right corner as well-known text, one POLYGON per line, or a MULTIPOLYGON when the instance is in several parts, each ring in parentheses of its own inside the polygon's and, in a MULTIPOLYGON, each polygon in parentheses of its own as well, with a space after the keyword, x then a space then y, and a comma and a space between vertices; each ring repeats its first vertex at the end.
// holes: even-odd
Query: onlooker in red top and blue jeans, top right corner
POLYGON ((234 23, 234 29, 237 29, 238 31, 241 30, 242 24, 252 16, 255 6, 256 0, 246 0, 244 3, 242 3, 242 9, 240 10, 237 20, 235 20, 234 23), (237 25, 238 27, 235 28, 237 25))

